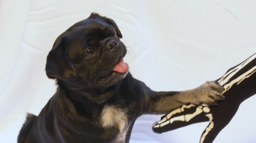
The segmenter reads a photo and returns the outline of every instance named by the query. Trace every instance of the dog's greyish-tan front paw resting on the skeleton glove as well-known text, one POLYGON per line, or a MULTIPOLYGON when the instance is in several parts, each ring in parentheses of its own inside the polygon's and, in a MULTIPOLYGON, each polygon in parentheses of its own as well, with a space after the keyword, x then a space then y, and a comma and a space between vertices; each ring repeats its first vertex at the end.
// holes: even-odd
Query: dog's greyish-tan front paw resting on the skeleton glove
POLYGON ((195 94, 195 104, 206 103, 208 105, 217 105, 217 101, 224 100, 224 95, 221 93, 224 91, 222 87, 216 81, 206 81, 203 85, 194 89, 195 94))

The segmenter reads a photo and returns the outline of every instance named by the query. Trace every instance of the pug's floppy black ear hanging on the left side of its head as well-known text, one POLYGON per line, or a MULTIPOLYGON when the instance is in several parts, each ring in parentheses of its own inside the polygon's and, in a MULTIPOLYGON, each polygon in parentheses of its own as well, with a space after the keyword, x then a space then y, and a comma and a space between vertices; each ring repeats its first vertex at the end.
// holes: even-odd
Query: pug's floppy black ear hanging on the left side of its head
POLYGON ((76 79, 76 69, 65 52, 65 36, 59 36, 46 60, 46 75, 51 79, 76 79))

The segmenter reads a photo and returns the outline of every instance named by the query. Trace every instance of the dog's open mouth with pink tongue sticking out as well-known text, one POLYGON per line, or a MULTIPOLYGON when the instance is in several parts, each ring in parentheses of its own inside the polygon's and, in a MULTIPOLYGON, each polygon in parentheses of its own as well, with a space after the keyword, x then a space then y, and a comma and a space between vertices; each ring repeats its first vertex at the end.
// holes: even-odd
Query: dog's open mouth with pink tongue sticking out
POLYGON ((119 58, 118 62, 112 69, 110 73, 105 75, 100 79, 100 81, 109 81, 110 79, 115 79, 117 77, 120 77, 120 75, 124 75, 128 71, 128 66, 127 64, 124 63, 124 61, 119 58))

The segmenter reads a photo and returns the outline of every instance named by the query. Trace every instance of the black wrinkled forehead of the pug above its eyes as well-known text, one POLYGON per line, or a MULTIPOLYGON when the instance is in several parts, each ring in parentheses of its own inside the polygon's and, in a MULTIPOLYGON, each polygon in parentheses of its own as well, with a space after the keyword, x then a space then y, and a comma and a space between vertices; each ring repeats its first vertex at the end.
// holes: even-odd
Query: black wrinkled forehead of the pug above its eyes
POLYGON ((70 27, 66 33, 66 48, 74 64, 82 61, 89 46, 99 46, 100 41, 111 36, 114 27, 106 22, 83 20, 70 27))

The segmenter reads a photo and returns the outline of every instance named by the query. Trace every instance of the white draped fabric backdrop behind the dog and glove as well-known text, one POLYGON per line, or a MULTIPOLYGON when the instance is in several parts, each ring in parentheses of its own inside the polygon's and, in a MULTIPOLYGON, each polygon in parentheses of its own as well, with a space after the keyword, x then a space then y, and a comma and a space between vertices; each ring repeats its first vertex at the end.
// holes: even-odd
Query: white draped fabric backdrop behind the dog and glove
MULTIPOLYGON (((0 143, 15 143, 26 112, 54 94, 46 56, 54 40, 91 12, 112 18, 130 51, 132 75, 156 91, 197 87, 256 53, 255 0, 0 0, 0 143)), ((256 96, 244 101, 214 143, 256 143, 256 96), (254 113, 254 114, 252 114, 254 113)), ((208 125, 153 133, 140 117, 130 143, 198 143, 208 125)))

